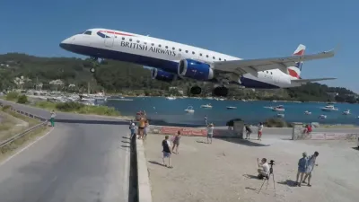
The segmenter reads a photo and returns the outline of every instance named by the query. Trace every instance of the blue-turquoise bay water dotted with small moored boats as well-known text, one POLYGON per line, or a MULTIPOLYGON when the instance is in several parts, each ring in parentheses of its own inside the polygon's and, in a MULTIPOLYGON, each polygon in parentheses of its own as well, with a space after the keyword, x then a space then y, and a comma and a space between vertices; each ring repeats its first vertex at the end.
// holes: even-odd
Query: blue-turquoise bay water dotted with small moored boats
POLYGON ((198 99, 176 99, 169 101, 166 98, 130 98, 133 101, 106 101, 107 106, 115 107, 122 115, 134 116, 136 111, 145 110, 151 119, 162 120, 167 123, 203 125, 204 117, 209 122, 225 125, 230 119, 243 119, 250 124, 256 124, 268 118, 276 117, 277 113, 284 113, 289 122, 320 122, 326 124, 355 124, 359 125, 359 105, 337 103, 338 111, 325 112, 320 110, 326 103, 296 103, 272 101, 215 101, 198 99), (201 105, 211 103, 212 109, 200 108, 201 105), (184 110, 192 106, 195 112, 188 114, 184 110), (268 106, 284 105, 285 112, 266 109, 268 106), (227 106, 237 107, 236 110, 227 110, 227 106), (304 111, 311 111, 305 115, 304 111), (351 110, 350 115, 343 115, 344 110, 351 110), (327 119, 319 119, 321 114, 327 119))

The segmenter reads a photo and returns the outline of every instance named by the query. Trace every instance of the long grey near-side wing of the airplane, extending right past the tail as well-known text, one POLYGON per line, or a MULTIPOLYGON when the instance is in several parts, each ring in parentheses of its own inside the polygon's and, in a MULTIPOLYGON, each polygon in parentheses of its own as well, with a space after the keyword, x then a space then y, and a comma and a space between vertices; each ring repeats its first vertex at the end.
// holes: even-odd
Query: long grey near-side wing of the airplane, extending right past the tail
POLYGON ((328 57, 334 57, 335 49, 330 51, 324 51, 317 54, 302 55, 302 56, 290 56, 290 57, 272 57, 272 58, 260 58, 260 59, 243 59, 232 61, 214 62, 215 71, 223 73, 234 73, 236 75, 244 75, 250 73, 256 75, 260 71, 266 71, 270 69, 280 69, 284 73, 287 72, 287 66, 295 66, 296 62, 308 61, 314 59, 323 59, 328 57))

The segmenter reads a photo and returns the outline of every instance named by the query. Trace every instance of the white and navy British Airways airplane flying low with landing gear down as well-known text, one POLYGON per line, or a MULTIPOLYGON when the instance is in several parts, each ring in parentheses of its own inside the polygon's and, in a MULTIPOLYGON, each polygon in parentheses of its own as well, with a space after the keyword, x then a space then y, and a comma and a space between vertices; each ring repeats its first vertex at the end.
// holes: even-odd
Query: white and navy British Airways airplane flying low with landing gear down
MULTIPOLYGON (((228 85, 244 88, 276 89, 298 87, 305 83, 336 78, 302 79, 304 61, 335 56, 335 49, 304 55, 300 44, 292 56, 258 59, 241 59, 204 48, 156 39, 126 31, 90 29, 63 40, 61 48, 76 54, 114 59, 154 67, 153 79, 172 82, 184 78, 214 83, 213 94, 226 97, 228 85)), ((97 67, 92 67, 94 73, 97 67)), ((192 94, 200 94, 199 86, 192 86, 192 94)))

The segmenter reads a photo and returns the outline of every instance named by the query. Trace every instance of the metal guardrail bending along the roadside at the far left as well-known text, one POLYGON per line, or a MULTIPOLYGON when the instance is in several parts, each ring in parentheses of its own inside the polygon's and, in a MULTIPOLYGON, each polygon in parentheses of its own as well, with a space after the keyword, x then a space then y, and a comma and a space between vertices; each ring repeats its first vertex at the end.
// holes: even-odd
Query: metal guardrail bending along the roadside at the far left
MULTIPOLYGON (((0 107, 4 107, 4 106, 5 105, 3 104, 3 102, 0 101, 0 107)), ((0 148, 4 147, 5 145, 9 145, 9 144, 13 143, 13 141, 15 141, 16 139, 18 139, 18 138, 20 138, 22 136, 25 136, 26 134, 30 133, 34 129, 37 129, 39 127, 44 127, 44 126, 48 125, 48 119, 44 119, 44 118, 41 118, 39 116, 35 116, 33 114, 30 114, 30 113, 22 111, 22 110, 16 110, 16 109, 13 109, 13 106, 11 106, 11 105, 9 105, 9 106, 10 106, 9 110, 12 110, 13 112, 16 112, 18 114, 22 114, 22 115, 30 117, 32 119, 39 119, 42 122, 39 123, 36 126, 33 126, 33 127, 30 127, 28 129, 26 129, 25 131, 22 131, 21 133, 17 134, 16 136, 12 136, 12 137, 4 140, 3 142, 0 143, 0 148)))

